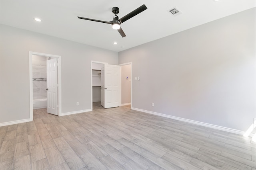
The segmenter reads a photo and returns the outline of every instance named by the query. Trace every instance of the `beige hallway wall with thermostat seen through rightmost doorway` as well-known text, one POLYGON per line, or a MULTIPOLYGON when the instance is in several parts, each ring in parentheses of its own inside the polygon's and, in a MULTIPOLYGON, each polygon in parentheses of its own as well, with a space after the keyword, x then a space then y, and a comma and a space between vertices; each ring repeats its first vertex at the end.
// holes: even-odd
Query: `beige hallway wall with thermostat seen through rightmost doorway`
POLYGON ((131 64, 121 66, 121 87, 121 104, 131 103, 131 64))

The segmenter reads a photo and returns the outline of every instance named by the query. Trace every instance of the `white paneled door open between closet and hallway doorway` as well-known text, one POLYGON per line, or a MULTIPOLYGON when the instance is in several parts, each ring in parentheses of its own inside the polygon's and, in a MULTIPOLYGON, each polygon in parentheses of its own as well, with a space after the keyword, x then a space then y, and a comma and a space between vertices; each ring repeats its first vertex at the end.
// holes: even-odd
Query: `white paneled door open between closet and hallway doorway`
POLYGON ((104 108, 120 106, 120 66, 104 64, 101 70, 101 105, 104 108))

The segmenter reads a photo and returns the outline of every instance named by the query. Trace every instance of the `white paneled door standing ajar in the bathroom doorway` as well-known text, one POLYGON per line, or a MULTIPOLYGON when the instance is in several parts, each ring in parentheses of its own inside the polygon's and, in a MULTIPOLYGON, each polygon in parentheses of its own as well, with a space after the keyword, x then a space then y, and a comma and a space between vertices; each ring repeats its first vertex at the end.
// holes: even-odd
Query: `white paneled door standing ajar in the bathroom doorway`
POLYGON ((47 60, 47 113, 58 115, 58 62, 47 60))

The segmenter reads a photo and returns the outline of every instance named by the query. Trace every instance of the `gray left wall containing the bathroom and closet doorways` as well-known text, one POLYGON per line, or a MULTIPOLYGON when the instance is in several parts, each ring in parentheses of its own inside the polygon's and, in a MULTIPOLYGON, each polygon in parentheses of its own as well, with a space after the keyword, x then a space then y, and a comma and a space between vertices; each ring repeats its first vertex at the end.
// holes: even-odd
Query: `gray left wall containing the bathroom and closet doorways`
POLYGON ((62 113, 90 109, 91 60, 118 64, 117 52, 0 25, 0 123, 29 119, 29 51, 62 57, 62 113))

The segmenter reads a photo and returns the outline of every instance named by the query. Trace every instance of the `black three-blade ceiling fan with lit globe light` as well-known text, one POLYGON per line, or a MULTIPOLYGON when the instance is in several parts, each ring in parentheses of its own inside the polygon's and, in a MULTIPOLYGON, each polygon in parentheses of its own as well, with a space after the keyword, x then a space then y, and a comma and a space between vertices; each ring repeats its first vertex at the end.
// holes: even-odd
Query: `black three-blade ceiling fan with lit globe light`
POLYGON ((127 14, 126 16, 122 17, 122 18, 118 18, 118 16, 116 14, 119 13, 119 8, 118 7, 113 7, 112 8, 112 12, 115 14, 115 16, 113 17, 112 21, 101 21, 101 20, 94 20, 94 19, 90 19, 90 18, 84 18, 84 17, 78 17, 79 19, 83 19, 83 20, 90 20, 90 21, 96 21, 96 22, 102 22, 102 23, 110 23, 112 25, 113 29, 117 29, 118 32, 120 33, 120 35, 122 37, 126 37, 124 31, 122 30, 122 28, 120 27, 121 23, 123 23, 124 21, 129 20, 130 18, 136 16, 137 14, 140 14, 142 11, 148 9, 146 7, 145 4, 143 4, 142 6, 140 6, 139 8, 137 8, 136 10, 130 12, 129 14, 127 14))

